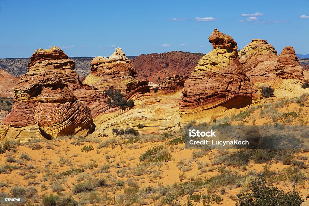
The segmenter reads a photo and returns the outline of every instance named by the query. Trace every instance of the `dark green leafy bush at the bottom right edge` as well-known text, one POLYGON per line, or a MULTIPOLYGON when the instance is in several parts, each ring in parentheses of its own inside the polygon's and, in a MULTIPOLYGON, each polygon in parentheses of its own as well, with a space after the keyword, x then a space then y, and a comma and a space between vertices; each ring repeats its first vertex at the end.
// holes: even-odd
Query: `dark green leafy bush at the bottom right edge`
POLYGON ((237 206, 298 206, 302 203, 298 191, 292 191, 285 193, 283 190, 279 190, 276 187, 267 187, 266 180, 264 178, 256 178, 250 180, 249 185, 252 193, 239 193, 236 195, 237 206))

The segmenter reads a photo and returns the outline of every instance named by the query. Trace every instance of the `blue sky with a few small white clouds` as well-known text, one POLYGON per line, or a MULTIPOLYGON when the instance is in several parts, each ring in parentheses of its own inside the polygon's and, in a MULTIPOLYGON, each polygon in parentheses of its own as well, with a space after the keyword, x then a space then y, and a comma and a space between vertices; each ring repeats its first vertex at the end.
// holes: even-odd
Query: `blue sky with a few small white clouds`
POLYGON ((243 48, 265 39, 278 51, 309 53, 309 0, 13 1, 0 0, 0 58, 59 46, 68 56, 173 50, 208 53, 214 28, 243 48))

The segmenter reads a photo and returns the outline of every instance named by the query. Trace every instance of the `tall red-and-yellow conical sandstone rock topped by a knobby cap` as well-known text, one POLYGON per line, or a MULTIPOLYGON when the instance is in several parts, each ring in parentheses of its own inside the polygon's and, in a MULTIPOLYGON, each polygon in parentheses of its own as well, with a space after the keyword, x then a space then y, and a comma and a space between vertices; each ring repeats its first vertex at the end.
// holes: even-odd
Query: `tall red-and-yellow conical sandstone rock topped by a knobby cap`
POLYGON ((184 83, 183 118, 210 120, 227 109, 252 103, 252 86, 239 62, 236 42, 217 29, 209 41, 214 49, 202 57, 184 83))

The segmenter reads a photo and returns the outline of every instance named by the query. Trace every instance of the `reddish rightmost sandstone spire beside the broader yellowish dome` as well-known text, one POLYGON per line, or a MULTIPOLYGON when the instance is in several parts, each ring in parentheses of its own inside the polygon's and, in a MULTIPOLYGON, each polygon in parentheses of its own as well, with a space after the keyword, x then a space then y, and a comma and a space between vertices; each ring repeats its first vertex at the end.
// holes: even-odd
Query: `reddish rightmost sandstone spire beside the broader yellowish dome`
POLYGON ((278 58, 276 74, 282 79, 303 79, 303 67, 299 65, 293 47, 285 47, 278 58))

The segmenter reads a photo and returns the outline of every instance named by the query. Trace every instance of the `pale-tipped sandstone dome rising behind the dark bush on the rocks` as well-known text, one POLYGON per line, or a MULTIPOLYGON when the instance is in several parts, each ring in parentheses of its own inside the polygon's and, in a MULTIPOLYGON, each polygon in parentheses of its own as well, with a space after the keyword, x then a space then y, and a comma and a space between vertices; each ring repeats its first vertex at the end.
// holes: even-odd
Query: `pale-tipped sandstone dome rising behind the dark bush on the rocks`
POLYGON ((91 61, 91 72, 84 84, 95 86, 99 91, 116 89, 125 91, 127 84, 136 82, 136 73, 132 62, 121 48, 116 48, 110 57, 95 57, 91 61))

